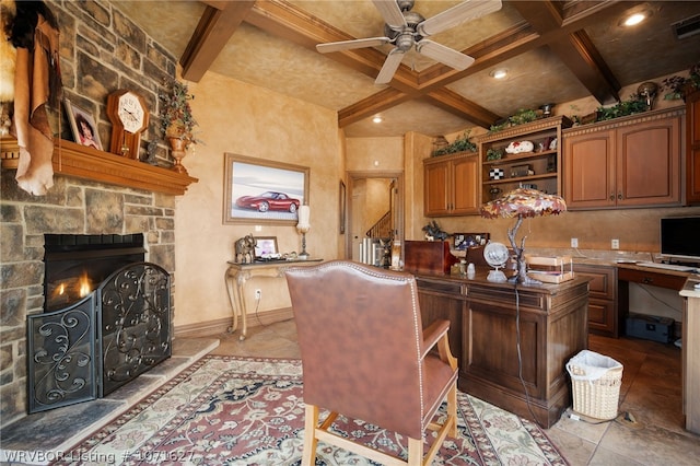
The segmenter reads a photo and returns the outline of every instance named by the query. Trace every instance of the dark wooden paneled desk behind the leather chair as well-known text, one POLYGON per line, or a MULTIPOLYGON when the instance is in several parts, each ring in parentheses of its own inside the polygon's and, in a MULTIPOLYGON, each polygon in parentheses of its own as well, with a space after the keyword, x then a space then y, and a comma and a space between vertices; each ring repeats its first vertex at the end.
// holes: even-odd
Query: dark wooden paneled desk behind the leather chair
POLYGON ((487 273, 418 273, 423 325, 451 321, 459 389, 549 428, 571 406, 565 364, 587 348, 588 279, 525 287, 487 273))

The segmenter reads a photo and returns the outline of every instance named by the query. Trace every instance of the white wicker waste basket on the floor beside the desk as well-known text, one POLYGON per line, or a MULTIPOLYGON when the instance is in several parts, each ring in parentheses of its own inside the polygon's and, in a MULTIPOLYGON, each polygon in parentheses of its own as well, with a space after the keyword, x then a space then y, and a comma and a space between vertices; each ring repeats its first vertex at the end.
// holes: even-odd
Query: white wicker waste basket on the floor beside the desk
POLYGON ((567 363, 571 375, 573 410, 610 420, 618 413, 622 364, 607 356, 583 350, 567 363))

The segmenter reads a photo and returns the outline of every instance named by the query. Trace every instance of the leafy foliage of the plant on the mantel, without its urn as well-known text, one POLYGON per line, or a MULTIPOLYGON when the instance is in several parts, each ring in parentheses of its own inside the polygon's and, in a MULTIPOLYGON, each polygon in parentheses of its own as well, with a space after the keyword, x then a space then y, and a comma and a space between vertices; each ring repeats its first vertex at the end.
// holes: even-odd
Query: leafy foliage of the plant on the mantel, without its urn
POLYGON ((192 116, 189 101, 195 98, 189 93, 187 84, 177 80, 168 80, 165 83, 165 92, 159 94, 161 100, 161 130, 166 138, 176 138, 185 141, 185 147, 202 142, 195 137, 197 120, 192 116))

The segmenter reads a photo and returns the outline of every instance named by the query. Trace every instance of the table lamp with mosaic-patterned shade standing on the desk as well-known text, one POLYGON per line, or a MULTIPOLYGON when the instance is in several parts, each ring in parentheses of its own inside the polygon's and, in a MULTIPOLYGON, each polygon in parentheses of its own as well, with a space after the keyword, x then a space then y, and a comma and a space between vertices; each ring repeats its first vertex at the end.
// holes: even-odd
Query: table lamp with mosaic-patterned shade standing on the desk
POLYGON ((479 213, 487 219, 502 217, 510 219, 517 217, 515 225, 508 230, 508 238, 511 241, 513 253, 517 261, 517 272, 511 280, 524 284, 537 284, 539 280, 527 277, 527 269, 524 257, 525 238, 521 240, 520 247, 515 242, 517 229, 523 223, 525 217, 542 217, 558 214, 567 211, 567 202, 559 196, 548 195, 537 189, 517 188, 504 196, 481 206, 479 213))

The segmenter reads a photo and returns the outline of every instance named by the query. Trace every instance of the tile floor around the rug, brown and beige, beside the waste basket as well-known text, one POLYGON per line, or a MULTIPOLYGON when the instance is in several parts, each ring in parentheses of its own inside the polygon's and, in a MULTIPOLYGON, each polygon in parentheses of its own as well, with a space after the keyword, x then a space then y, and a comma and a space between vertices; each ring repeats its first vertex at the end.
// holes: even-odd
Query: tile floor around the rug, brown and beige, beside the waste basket
MULTIPOLYGON (((248 328, 247 339, 220 339, 213 354, 300 358, 293 321, 248 328)), ((618 417, 604 423, 574 421, 564 412, 546 430, 572 466, 579 465, 698 465, 700 435, 684 430, 680 350, 654 341, 591 336, 592 351, 623 365, 618 417)))

